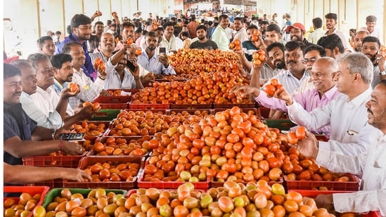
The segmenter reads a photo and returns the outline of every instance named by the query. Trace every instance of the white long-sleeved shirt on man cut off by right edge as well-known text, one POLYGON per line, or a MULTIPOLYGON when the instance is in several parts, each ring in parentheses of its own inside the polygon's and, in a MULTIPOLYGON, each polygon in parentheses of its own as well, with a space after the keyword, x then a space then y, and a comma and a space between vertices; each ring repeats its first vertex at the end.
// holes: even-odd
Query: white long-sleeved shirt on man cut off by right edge
POLYGON ((319 150, 316 163, 337 173, 353 173, 361 177, 359 192, 333 194, 335 211, 380 211, 381 216, 386 216, 386 136, 380 135, 375 145, 358 156, 319 150))

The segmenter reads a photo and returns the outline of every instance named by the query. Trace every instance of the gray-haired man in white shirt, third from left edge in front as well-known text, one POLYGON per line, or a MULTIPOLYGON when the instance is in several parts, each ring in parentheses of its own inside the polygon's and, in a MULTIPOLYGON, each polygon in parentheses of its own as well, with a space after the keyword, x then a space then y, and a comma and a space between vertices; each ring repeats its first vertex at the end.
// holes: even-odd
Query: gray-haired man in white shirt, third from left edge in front
MULTIPOLYGON (((39 107, 41 112, 49 118, 51 117, 50 114, 55 111, 60 115, 60 121, 63 121, 67 115, 74 115, 74 110, 68 105, 68 100, 70 97, 76 96, 77 92, 71 93, 67 88, 59 97, 56 91, 53 91, 53 89, 50 88, 50 86, 54 84, 53 77, 56 68, 52 67, 49 58, 41 53, 34 53, 28 55, 27 60, 30 60, 34 70, 36 70, 37 79, 37 92, 30 95, 30 103, 34 103, 34 105, 39 107)), ((32 119, 41 118, 37 117, 36 114, 32 115, 34 110, 31 110, 31 107, 28 104, 24 103, 23 110, 25 110, 32 119)), ((58 128, 58 126, 55 128, 58 128)))

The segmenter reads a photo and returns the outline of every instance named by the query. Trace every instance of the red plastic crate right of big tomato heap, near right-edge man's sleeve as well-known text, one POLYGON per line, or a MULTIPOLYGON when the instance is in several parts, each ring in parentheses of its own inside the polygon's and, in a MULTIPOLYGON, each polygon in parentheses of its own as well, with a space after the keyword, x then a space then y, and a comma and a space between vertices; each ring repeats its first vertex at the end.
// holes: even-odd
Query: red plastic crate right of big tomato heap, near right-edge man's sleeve
POLYGON ((326 187, 329 190, 339 191, 358 191, 359 180, 352 174, 347 174, 350 180, 349 182, 338 181, 315 181, 315 180, 288 180, 287 176, 284 176, 284 182, 287 190, 313 190, 314 188, 326 187))

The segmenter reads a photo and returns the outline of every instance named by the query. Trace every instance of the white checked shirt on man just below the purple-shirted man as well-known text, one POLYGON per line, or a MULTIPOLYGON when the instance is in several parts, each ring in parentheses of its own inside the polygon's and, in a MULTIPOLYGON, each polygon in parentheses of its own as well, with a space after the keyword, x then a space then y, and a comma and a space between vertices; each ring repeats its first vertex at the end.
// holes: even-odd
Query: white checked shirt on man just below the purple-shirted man
POLYGON ((105 81, 99 77, 95 80, 95 82, 91 81, 91 79, 83 73, 82 68, 79 72, 77 72, 75 68, 72 68, 72 70, 74 70, 72 83, 79 84, 80 86, 80 92, 78 95, 70 97, 69 100, 72 109, 75 109, 81 102, 94 101, 101 93, 105 81))

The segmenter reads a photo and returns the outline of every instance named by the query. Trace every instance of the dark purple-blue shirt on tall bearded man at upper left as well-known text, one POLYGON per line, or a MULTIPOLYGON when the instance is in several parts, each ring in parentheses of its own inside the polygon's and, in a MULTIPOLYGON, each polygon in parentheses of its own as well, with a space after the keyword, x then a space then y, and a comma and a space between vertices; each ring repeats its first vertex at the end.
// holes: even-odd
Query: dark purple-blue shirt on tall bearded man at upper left
MULTIPOLYGON (((64 41, 62 41, 62 43, 60 43, 56 47, 55 54, 62 53, 63 46, 65 46, 65 44, 67 44, 70 41, 80 42, 80 40, 75 36, 75 34, 70 34, 69 37, 67 37, 64 41)), ((91 81, 95 81, 96 77, 98 76, 98 72, 96 72, 96 70, 94 69, 94 63, 91 62, 89 49, 87 48, 87 41, 83 41, 82 47, 83 47, 84 55, 86 56, 86 60, 85 60, 86 62, 84 63, 84 65, 82 65, 82 69, 84 70, 84 73, 87 75, 87 77, 91 79, 91 81)))

